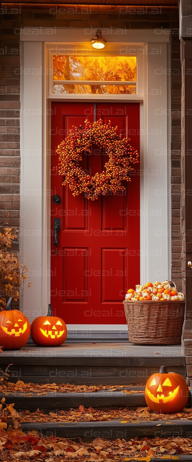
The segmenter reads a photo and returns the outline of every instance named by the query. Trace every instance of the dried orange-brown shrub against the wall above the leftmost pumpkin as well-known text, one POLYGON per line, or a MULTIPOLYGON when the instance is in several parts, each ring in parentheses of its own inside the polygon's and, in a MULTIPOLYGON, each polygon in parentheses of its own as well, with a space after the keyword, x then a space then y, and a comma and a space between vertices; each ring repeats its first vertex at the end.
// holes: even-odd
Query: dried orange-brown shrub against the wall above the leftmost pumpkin
POLYGON ((9 297, 17 301, 19 288, 23 288, 24 280, 27 280, 27 267, 20 263, 16 252, 8 251, 17 232, 16 228, 4 228, 0 232, 0 310, 5 310, 9 297))

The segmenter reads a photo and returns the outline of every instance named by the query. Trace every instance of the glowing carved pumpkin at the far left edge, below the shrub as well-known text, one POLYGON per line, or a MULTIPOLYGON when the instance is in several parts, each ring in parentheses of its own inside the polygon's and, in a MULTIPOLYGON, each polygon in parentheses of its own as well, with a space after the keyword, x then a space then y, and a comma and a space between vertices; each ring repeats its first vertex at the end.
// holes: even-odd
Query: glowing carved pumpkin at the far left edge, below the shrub
POLYGON ((12 297, 6 309, 0 312, 0 346, 6 350, 17 350, 29 340, 30 325, 19 310, 12 310, 12 297))

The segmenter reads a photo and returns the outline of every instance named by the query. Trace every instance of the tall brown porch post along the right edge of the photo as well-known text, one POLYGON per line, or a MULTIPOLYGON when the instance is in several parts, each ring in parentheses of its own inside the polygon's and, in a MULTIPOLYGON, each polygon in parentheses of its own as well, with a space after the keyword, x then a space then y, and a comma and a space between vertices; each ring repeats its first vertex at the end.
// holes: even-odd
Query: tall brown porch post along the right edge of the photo
POLYGON ((186 355, 187 382, 192 385, 192 2, 180 0, 181 99, 181 267, 186 316, 182 353, 186 355))

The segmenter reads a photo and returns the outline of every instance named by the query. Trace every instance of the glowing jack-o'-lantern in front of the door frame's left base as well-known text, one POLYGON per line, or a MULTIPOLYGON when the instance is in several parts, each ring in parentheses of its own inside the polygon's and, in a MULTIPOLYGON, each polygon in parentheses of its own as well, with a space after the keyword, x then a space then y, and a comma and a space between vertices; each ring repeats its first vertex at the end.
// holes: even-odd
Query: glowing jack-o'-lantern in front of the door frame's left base
POLYGON ((58 316, 52 316, 51 304, 49 304, 47 316, 39 316, 31 324, 31 338, 36 345, 61 345, 66 337, 66 324, 58 316))

